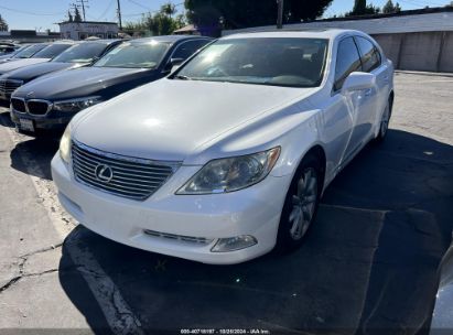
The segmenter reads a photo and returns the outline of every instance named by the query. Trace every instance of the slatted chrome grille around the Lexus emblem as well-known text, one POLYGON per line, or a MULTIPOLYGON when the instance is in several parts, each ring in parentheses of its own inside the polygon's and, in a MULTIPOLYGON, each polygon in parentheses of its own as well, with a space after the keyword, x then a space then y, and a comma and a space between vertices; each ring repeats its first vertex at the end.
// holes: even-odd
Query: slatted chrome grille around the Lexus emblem
POLYGON ((179 163, 142 160, 99 151, 73 141, 76 180, 94 188, 136 201, 144 201, 175 172, 179 163), (111 177, 99 177, 99 166, 108 166, 111 177))

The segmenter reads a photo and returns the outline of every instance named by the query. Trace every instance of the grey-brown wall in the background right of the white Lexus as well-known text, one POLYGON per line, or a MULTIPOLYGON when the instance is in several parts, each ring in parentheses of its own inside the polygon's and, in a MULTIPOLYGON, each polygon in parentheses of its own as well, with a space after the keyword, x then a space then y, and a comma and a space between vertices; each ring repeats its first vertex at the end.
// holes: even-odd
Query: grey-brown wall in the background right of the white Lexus
POLYGON ((453 72, 453 32, 374 34, 398 69, 453 72))

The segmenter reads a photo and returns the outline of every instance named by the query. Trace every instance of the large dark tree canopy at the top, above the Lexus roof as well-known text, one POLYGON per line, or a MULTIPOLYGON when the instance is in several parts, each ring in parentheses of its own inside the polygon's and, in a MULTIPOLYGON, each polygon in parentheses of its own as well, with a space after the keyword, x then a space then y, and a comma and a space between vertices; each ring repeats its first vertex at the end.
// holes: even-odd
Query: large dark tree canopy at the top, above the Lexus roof
MULTIPOLYGON (((323 14, 332 0, 285 0, 283 23, 313 20, 323 14)), ((198 28, 239 29, 277 22, 276 0, 185 0, 187 19, 198 28)))

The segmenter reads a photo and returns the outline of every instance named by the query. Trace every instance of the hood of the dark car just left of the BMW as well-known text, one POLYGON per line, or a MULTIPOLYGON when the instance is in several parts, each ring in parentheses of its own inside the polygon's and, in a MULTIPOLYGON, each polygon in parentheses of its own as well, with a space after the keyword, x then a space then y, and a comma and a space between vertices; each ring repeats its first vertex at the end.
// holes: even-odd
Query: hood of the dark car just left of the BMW
POLYGON ((40 64, 28 65, 14 71, 10 71, 3 75, 3 79, 18 79, 23 82, 30 82, 40 76, 46 75, 52 72, 80 67, 84 64, 78 63, 60 63, 60 62, 46 62, 40 64))

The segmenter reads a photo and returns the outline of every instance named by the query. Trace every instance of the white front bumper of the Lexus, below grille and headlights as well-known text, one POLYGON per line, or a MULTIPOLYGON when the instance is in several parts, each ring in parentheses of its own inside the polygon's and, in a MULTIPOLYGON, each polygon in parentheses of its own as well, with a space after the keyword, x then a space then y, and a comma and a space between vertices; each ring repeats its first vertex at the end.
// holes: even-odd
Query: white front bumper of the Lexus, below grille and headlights
POLYGON ((291 176, 269 175, 251 187, 228 194, 175 195, 198 169, 181 166, 150 198, 138 202, 75 181, 72 169, 58 153, 52 161, 52 175, 63 207, 82 225, 109 239, 214 264, 238 263, 269 252, 276 245, 291 176), (257 244, 235 251, 211 251, 219 238, 244 235, 254 236, 257 244), (207 242, 169 236, 203 238, 207 242))

